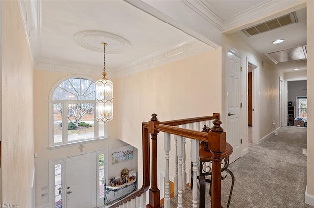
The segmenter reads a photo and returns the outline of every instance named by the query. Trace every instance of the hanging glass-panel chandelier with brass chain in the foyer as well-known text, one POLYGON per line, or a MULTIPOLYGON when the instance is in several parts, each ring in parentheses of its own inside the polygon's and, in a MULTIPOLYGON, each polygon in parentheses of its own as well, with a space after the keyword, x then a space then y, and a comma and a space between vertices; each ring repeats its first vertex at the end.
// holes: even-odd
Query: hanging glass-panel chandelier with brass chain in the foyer
POLYGON ((105 46, 107 43, 101 43, 104 46, 104 69, 103 77, 96 81, 96 103, 95 114, 98 122, 111 121, 113 119, 113 83, 106 78, 105 69, 105 46))

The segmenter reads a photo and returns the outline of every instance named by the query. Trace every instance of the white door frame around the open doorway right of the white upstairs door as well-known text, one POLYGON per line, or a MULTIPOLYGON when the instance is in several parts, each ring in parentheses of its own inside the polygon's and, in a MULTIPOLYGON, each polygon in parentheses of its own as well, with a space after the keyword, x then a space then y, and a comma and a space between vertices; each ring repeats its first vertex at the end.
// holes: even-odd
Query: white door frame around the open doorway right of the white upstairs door
MULTIPOLYGON (((253 144, 259 144, 260 143, 260 64, 255 61, 254 59, 251 59, 250 57, 246 57, 246 81, 245 81, 245 89, 248 89, 247 86, 247 66, 250 63, 250 65, 254 66, 254 70, 252 71, 252 108, 254 111, 252 112, 252 142, 253 144)), ((246 103, 248 102, 248 92, 246 93, 246 103)), ((243 111, 247 112, 247 104, 243 108, 243 111)), ((246 126, 246 132, 248 132, 248 117, 245 117, 245 126, 246 126)), ((247 136, 247 142, 248 142, 248 136, 247 136)))

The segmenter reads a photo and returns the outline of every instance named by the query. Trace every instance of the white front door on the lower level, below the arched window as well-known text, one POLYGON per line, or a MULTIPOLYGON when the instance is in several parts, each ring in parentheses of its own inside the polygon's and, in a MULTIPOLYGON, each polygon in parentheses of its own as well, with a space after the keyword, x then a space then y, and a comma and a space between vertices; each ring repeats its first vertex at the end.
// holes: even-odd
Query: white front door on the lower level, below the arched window
POLYGON ((96 207, 96 152, 66 158, 68 208, 96 207))

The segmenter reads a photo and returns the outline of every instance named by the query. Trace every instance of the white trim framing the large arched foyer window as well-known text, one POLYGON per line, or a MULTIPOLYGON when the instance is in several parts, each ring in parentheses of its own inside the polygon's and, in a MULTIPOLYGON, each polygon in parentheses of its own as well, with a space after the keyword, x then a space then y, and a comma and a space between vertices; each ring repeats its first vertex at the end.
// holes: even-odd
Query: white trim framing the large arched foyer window
MULTIPOLYGON (((105 123, 104 125, 104 131, 105 131, 105 135, 104 136, 101 136, 99 137, 98 136, 98 126, 99 125, 94 125, 94 132, 97 132, 96 134, 96 137, 94 135, 94 138, 90 138, 90 139, 85 139, 85 140, 78 140, 78 141, 68 141, 67 137, 66 137, 66 140, 64 139, 65 138, 65 130, 62 131, 62 142, 59 142, 59 143, 54 143, 54 122, 53 122, 53 104, 54 103, 62 103, 62 106, 63 108, 66 107, 65 105, 67 103, 91 103, 91 100, 53 100, 52 97, 53 97, 53 94, 55 92, 55 90, 57 89, 57 87, 64 81, 68 80, 68 79, 73 79, 73 78, 83 78, 83 79, 89 79, 91 81, 93 81, 95 83, 95 79, 94 78, 91 78, 89 76, 86 76, 86 75, 81 75, 81 74, 76 74, 76 75, 69 75, 69 76, 66 76, 66 77, 63 77, 62 79, 59 79, 53 86, 52 86, 52 89, 49 93, 49 99, 48 99, 48 111, 49 111, 49 116, 48 116, 48 119, 49 119, 49 146, 48 148, 49 149, 57 149, 57 148, 62 148, 62 147, 68 147, 68 146, 71 146, 71 145, 74 145, 74 144, 83 144, 83 143, 89 143, 89 142, 94 142, 94 141, 100 141, 100 140, 103 140, 103 139, 109 139, 108 137, 108 125, 107 123, 105 123)), ((93 102, 95 104, 95 101, 93 102)), ((62 116, 65 116, 65 115, 62 115, 62 116)), ((63 118, 62 118, 63 119, 63 118)), ((94 118, 94 123, 98 123, 96 121, 96 119, 94 118)))

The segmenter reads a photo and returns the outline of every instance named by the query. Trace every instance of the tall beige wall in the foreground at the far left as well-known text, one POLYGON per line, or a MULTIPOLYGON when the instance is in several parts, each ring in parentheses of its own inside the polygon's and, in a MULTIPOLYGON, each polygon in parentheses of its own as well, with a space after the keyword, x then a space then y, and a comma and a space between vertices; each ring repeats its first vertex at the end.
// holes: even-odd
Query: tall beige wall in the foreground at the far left
POLYGON ((31 207, 34 168, 33 62, 18 1, 1 1, 2 201, 31 207))

